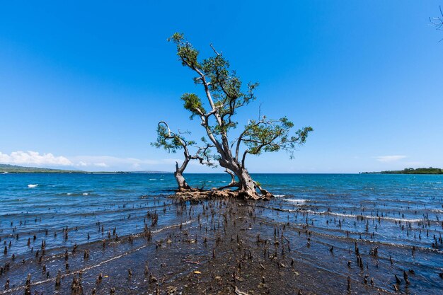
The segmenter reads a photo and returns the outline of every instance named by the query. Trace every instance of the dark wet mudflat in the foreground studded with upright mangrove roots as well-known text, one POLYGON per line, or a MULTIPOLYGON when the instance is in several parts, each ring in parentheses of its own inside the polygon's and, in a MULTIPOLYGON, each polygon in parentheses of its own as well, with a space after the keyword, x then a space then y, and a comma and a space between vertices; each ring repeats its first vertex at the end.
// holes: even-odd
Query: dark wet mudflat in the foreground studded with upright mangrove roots
POLYGON ((40 235, 28 254, 3 254, 0 294, 437 294, 442 286, 438 269, 417 262, 441 260, 434 249, 328 236, 311 231, 312 217, 267 202, 158 202, 134 235, 97 221, 100 241, 50 248, 40 235), (398 262, 405 255, 414 261, 398 262))

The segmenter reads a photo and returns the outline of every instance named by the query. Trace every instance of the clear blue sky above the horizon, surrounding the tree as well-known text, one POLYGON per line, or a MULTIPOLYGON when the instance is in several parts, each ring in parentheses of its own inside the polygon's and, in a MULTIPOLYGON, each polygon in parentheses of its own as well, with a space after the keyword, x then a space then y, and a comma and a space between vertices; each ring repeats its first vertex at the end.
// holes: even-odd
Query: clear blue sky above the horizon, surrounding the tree
MULTIPOLYGON (((166 42, 209 43, 258 100, 313 134, 250 172, 443 168, 441 1, 8 1, 0 4, 0 163, 173 170, 156 123, 201 134, 180 96, 199 91, 166 42)), ((189 172, 205 172, 196 163, 189 172)), ((218 170, 209 170, 216 172, 218 170)))

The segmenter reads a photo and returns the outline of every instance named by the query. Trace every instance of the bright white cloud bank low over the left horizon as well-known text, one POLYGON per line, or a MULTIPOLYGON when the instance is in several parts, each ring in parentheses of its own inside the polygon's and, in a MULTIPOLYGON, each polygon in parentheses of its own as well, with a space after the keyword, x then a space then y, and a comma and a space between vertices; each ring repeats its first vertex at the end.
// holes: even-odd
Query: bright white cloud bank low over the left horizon
POLYGON ((64 156, 53 154, 40 154, 38 151, 13 151, 11 154, 3 154, 0 151, 0 163, 16 165, 52 165, 71 166, 73 163, 64 156))

